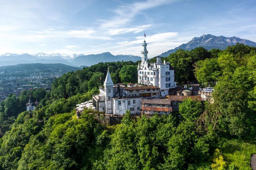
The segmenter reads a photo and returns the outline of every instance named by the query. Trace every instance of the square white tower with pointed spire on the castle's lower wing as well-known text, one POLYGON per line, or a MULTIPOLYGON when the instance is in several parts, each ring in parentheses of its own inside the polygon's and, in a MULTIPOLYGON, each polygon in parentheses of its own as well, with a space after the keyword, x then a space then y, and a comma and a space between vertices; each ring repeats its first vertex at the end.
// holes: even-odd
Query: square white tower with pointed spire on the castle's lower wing
POLYGON ((113 97, 113 82, 108 70, 107 77, 104 81, 104 88, 105 88, 105 111, 106 114, 112 113, 112 97, 113 97))

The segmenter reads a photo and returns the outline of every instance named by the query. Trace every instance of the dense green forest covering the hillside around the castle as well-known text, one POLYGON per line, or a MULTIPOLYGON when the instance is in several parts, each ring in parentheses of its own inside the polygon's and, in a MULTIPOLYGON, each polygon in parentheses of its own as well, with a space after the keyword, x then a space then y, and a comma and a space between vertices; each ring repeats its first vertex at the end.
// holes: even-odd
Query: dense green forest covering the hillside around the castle
MULTIPOLYGON (((154 62, 152 58, 149 62, 154 62)), ((162 58, 178 85, 213 86, 214 102, 184 100, 177 114, 102 125, 77 103, 99 92, 107 70, 114 83, 136 83, 139 62, 98 63, 68 72, 52 90, 23 91, 0 103, 0 169, 251 169, 256 153, 256 48, 179 49, 162 58), (100 78, 102 79, 100 81, 100 78), (25 111, 29 96, 40 104, 25 111)))

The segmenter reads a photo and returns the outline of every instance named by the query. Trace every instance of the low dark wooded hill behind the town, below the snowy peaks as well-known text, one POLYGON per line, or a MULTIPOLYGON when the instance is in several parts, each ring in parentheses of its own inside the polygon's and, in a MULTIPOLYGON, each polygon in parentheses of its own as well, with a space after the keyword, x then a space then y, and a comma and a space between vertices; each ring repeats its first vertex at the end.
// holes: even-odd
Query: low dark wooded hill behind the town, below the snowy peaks
POLYGON ((42 63, 33 63, 33 64, 17 64, 17 65, 9 65, 9 66, 2 66, 0 67, 0 72, 14 72, 14 71, 30 71, 30 70, 56 70, 62 72, 68 72, 68 71, 76 71, 81 70, 81 68, 78 67, 72 67, 65 64, 55 63, 55 64, 42 64, 42 63))

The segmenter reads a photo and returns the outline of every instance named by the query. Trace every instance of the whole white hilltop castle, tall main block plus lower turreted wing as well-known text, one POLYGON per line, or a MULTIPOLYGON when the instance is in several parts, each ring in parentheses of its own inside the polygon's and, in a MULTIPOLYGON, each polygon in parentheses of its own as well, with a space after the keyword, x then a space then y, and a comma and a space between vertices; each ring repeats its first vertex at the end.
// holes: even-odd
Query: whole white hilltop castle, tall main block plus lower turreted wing
POLYGON ((168 95, 170 88, 176 86, 174 70, 169 63, 162 63, 157 57, 156 63, 148 63, 147 43, 142 43, 141 63, 138 65, 138 83, 142 85, 114 85, 108 70, 104 88, 92 96, 93 106, 97 111, 106 114, 124 115, 126 110, 131 114, 140 114, 141 99, 159 99, 168 95))

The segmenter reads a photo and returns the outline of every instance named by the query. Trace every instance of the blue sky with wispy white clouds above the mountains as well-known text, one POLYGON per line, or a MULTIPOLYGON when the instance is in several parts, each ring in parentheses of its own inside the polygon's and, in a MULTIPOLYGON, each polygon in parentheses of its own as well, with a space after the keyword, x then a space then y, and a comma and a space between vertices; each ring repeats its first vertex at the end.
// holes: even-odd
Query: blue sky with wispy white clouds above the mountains
POLYGON ((203 34, 256 42, 255 0, 0 1, 0 54, 148 56, 203 34))

